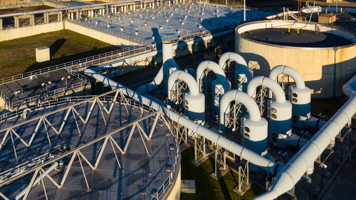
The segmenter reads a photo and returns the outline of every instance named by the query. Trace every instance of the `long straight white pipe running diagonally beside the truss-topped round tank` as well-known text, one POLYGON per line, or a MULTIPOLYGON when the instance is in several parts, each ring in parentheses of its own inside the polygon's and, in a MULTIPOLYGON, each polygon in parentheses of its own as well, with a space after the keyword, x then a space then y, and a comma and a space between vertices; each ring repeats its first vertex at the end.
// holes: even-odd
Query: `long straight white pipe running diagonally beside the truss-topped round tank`
POLYGON ((99 74, 92 69, 86 69, 84 73, 88 76, 95 78, 98 81, 103 82, 104 84, 109 85, 112 89, 121 89, 124 95, 128 96, 129 98, 135 99, 141 102, 143 105, 149 106, 157 111, 162 111, 163 114, 168 117, 169 119, 185 126, 186 128, 190 129, 191 131, 205 137, 206 139, 216 143, 220 147, 234 153, 235 155, 239 156, 241 159, 247 160, 254 165, 266 170, 271 174, 276 174, 279 170, 279 164, 274 163, 273 161, 253 152, 250 149, 247 149, 214 131, 205 128, 204 126, 197 124, 186 117, 175 113, 172 110, 167 109, 164 106, 152 101, 141 94, 130 90, 129 88, 120 85, 119 83, 99 74))

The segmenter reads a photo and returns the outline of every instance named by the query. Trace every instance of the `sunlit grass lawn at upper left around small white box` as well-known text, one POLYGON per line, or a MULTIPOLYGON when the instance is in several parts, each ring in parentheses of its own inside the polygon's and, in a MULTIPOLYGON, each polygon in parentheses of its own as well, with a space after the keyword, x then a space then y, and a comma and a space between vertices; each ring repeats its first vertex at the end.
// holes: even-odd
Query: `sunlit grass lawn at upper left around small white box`
POLYGON ((119 49, 69 30, 0 42, 0 78, 119 49), (51 60, 36 62, 36 48, 50 48, 51 60))

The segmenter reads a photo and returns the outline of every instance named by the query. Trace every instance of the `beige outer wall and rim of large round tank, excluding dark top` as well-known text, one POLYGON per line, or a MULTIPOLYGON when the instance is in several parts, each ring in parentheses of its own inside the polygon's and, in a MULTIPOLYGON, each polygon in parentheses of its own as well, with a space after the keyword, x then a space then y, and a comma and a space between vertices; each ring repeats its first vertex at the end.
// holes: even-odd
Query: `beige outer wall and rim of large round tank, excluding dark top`
POLYGON ((356 73, 356 37, 337 27, 296 23, 295 21, 259 21, 243 24, 235 29, 235 51, 248 62, 254 76, 268 76, 276 65, 287 65, 298 70, 306 85, 312 90, 313 98, 339 96, 342 85, 356 73), (291 47, 269 44, 243 37, 243 33, 256 29, 288 28, 306 29, 334 34, 353 44, 338 47, 291 47), (242 35, 241 35, 242 34, 242 35))

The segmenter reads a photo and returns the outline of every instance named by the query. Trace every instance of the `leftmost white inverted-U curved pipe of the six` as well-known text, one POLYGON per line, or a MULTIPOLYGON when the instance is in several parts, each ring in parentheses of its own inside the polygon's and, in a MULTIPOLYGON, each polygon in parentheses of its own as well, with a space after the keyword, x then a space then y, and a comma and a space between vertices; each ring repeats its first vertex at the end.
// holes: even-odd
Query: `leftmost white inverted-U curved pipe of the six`
POLYGON ((173 72, 168 78, 168 100, 171 100, 172 98, 170 90, 178 79, 184 81, 188 85, 191 95, 197 96, 199 94, 198 85, 194 77, 187 72, 177 70, 173 72))

